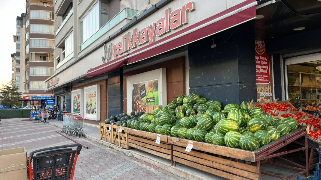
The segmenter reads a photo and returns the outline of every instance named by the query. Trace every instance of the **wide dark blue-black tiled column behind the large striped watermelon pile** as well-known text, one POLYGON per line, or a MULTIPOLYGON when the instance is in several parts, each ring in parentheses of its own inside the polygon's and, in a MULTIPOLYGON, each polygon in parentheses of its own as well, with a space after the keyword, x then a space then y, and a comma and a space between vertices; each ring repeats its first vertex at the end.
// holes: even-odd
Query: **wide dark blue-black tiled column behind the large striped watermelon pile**
POLYGON ((189 44, 190 93, 223 106, 256 99, 254 42, 254 32, 231 29, 189 44))

